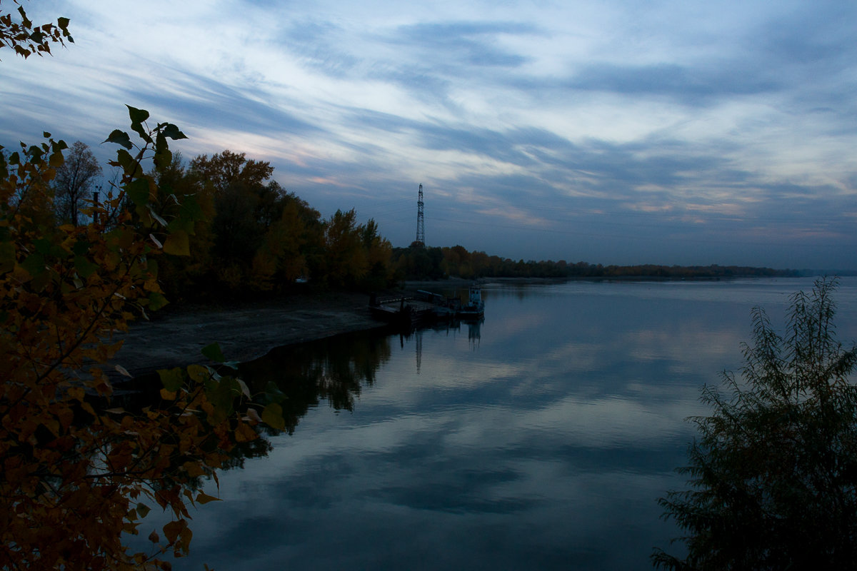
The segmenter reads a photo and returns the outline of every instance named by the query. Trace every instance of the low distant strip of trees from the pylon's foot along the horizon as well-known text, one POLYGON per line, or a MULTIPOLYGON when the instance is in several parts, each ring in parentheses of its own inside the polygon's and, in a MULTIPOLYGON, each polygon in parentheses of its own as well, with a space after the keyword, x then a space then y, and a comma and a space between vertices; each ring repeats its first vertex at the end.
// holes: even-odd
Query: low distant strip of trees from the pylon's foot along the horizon
POLYGON ((462 246, 424 247, 417 242, 407 248, 393 248, 393 265, 405 279, 423 280, 442 277, 477 279, 480 277, 796 277, 796 270, 772 270, 737 265, 601 265, 587 262, 568 263, 489 256, 468 252, 462 246))

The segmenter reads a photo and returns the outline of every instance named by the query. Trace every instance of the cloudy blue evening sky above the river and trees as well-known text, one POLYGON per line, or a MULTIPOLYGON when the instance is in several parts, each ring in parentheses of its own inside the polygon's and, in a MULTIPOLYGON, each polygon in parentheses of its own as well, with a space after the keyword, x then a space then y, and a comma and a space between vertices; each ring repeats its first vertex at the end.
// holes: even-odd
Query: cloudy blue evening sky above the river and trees
MULTIPOLYGON (((14 8, 7 2, 3 10, 14 8)), ((329 217, 511 259, 857 270, 857 3, 33 0, 0 144, 125 104, 329 217)))

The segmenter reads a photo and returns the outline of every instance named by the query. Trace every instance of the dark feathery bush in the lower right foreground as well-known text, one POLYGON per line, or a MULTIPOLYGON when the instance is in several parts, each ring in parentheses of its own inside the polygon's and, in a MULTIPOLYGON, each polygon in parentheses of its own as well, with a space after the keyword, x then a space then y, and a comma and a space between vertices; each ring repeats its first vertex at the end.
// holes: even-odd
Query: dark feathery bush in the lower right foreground
POLYGON ((752 312, 741 378, 705 387, 691 419, 689 491, 659 500, 686 535, 671 569, 854 568, 857 564, 857 348, 836 341, 836 279, 792 297, 785 336, 752 312))

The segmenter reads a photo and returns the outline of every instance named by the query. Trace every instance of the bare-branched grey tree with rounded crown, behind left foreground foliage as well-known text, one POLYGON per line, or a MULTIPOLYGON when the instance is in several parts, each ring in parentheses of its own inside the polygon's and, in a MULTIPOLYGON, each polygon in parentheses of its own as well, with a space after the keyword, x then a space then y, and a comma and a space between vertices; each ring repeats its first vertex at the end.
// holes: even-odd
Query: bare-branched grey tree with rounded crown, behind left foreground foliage
POLYGON ((79 223, 80 213, 92 199, 95 182, 101 175, 101 165, 93 152, 81 141, 75 141, 63 164, 54 176, 54 205, 61 223, 79 223))

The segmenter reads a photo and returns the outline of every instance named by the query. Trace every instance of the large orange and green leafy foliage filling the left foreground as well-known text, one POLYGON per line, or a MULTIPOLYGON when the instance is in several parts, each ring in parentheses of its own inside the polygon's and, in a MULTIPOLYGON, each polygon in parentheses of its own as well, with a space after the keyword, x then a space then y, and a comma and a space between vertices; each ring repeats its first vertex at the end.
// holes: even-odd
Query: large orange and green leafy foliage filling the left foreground
POLYGON ((129 116, 141 141, 108 137, 122 146, 111 163, 122 181, 82 226, 53 220, 63 141, 0 147, 0 568, 154 568, 166 550, 181 556, 188 505, 216 499, 192 491, 195 479, 258 437, 254 425, 283 425, 276 401, 252 402, 242 381, 203 366, 160 372, 150 401, 111 402, 99 365, 121 346, 116 331, 165 305, 156 259, 189 254, 198 212, 190 197, 161 196, 142 168, 169 164, 167 140, 184 134, 149 128, 145 110, 129 116), (150 552, 127 553, 123 533, 156 504, 172 516, 165 543, 153 532, 150 552))

